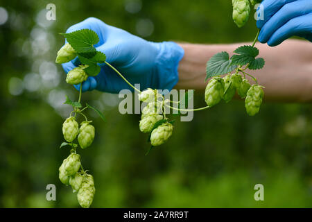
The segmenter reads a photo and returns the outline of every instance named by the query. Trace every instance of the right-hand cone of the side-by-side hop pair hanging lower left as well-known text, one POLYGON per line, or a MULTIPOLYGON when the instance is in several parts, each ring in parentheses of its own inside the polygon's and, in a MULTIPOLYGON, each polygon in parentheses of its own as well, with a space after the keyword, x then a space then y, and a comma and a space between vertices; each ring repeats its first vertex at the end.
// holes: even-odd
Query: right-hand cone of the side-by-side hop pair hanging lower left
POLYGON ((83 121, 79 128, 78 143, 81 148, 87 148, 94 140, 95 128, 90 123, 92 121, 83 121))

